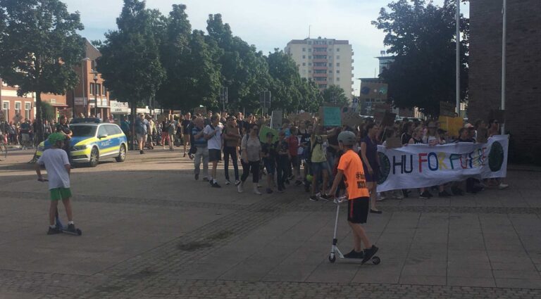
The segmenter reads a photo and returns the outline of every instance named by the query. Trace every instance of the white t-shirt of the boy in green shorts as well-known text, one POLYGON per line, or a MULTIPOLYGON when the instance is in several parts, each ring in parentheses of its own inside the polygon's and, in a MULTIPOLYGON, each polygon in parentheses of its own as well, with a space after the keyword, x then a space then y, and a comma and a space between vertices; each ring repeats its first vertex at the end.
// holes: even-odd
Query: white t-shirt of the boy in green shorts
POLYGON ((49 190, 55 188, 70 188, 70 176, 65 165, 70 165, 68 154, 60 148, 45 150, 37 164, 45 165, 49 179, 49 190))

